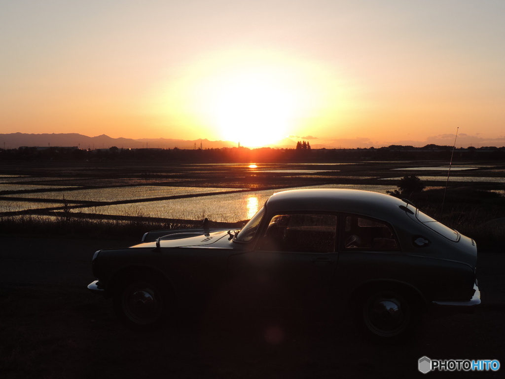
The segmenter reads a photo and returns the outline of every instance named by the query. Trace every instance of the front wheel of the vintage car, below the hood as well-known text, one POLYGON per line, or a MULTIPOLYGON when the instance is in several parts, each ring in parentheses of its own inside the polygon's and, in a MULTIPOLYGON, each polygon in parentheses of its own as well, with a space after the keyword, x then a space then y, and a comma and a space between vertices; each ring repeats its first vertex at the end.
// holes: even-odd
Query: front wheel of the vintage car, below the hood
POLYGON ((138 278, 124 281, 114 296, 114 310, 129 327, 151 330, 166 321, 169 299, 160 281, 138 278))

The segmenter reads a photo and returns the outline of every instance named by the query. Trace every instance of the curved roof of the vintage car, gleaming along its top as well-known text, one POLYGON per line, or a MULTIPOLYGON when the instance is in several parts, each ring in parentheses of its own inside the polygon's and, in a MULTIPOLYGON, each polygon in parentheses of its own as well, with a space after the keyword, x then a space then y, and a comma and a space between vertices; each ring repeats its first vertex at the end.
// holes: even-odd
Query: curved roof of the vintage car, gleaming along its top
MULTIPOLYGON (((406 202, 394 196, 358 189, 292 189, 272 195, 266 202, 268 213, 316 211, 345 212, 390 220, 405 215, 406 202), (402 208, 399 208, 403 206, 402 208)), ((411 206, 412 207, 412 206, 411 206)), ((414 208, 411 208, 414 211, 414 208)))

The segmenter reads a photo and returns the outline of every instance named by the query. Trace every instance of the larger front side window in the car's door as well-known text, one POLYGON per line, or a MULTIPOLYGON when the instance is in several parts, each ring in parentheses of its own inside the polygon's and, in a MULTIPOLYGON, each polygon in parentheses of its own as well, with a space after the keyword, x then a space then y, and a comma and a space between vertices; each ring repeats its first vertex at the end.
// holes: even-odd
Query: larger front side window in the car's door
POLYGON ((335 251, 337 216, 279 214, 271 218, 258 250, 331 253, 335 251))

